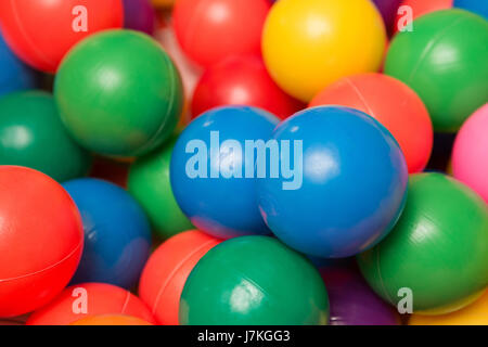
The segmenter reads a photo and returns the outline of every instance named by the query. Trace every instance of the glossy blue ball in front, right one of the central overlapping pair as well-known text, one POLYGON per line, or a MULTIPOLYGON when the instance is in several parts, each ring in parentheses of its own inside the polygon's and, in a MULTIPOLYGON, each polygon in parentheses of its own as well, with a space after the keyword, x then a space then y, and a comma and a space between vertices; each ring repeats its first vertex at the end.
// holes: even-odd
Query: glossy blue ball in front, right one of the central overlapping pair
POLYGON ((283 163, 283 151, 280 157, 282 167, 294 169, 294 184, 286 175, 257 183, 262 217, 282 242, 308 255, 342 258, 390 231, 403 208, 408 170, 378 121, 354 108, 313 107, 281 123, 273 139, 282 147, 301 146, 301 157, 283 163))

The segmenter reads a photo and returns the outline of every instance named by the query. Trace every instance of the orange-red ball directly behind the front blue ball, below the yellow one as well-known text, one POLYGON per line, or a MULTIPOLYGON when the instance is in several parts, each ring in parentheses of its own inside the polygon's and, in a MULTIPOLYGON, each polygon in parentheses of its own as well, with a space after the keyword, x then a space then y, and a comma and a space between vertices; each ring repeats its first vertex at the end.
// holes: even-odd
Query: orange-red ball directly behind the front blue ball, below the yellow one
POLYGON ((362 111, 384 125, 398 141, 409 172, 422 171, 433 146, 433 127, 419 95, 398 79, 380 74, 345 77, 325 88, 310 106, 342 105, 362 111))

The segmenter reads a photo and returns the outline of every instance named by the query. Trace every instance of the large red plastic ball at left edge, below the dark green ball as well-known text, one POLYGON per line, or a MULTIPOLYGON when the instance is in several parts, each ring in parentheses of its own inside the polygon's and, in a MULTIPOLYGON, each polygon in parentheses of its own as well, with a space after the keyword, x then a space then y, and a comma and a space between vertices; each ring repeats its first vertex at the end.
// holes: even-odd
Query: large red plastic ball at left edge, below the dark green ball
POLYGON ((30 312, 75 273, 84 234, 69 195, 48 176, 0 166, 0 317, 30 312))

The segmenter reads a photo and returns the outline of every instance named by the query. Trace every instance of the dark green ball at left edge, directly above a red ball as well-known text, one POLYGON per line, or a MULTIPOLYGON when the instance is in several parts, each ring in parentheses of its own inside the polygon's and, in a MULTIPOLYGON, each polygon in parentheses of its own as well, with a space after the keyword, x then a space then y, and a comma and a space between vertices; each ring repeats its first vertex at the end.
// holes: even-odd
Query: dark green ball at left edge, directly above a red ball
POLYGON ((63 126, 51 94, 27 91, 0 99, 0 165, 18 165, 62 182, 86 176, 91 155, 63 126))

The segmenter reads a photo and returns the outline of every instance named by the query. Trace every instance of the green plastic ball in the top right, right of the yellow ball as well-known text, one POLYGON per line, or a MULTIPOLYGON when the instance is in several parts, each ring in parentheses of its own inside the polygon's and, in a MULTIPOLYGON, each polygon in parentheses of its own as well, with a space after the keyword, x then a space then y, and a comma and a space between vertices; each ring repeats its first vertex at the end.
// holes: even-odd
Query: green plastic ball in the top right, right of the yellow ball
POLYGON ((424 101, 436 131, 455 131, 488 101, 488 21, 463 11, 436 11, 399 33, 385 74, 424 101))

